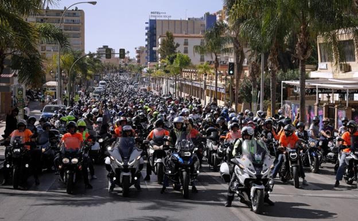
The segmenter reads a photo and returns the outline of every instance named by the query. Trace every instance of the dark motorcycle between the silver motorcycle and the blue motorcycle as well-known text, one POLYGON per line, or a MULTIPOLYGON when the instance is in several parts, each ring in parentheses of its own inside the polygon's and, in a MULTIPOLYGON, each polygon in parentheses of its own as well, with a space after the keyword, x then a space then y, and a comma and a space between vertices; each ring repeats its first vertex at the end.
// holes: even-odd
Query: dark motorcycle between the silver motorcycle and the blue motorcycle
POLYGON ((164 136, 162 139, 162 142, 158 142, 158 140, 150 141, 145 140, 143 141, 144 144, 149 145, 149 151, 148 151, 148 162, 150 164, 151 170, 154 172, 155 175, 158 176, 158 184, 162 184, 164 173, 165 173, 165 165, 164 165, 164 159, 167 155, 167 152, 165 149, 168 149, 168 145, 165 144, 165 141, 169 140, 168 136, 164 136))

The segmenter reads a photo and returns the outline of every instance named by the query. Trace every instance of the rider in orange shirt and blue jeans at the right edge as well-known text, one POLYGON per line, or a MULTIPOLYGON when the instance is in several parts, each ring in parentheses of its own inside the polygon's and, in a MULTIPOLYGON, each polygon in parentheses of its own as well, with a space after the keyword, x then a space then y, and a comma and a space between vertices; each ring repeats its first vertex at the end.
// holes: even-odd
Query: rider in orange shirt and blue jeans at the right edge
MULTIPOLYGON (((347 123, 347 127, 348 127, 348 131, 346 131, 342 135, 343 145, 347 146, 347 148, 343 149, 341 152, 341 156, 340 156, 340 160, 339 160, 339 167, 338 167, 337 175, 336 175, 336 182, 334 184, 335 187, 339 186, 339 181, 341 181, 343 178, 344 167, 346 165, 345 157, 349 154, 349 152, 355 151, 355 146, 351 145, 352 144, 351 138, 353 136, 353 140, 357 140, 356 139, 356 137, 358 136, 357 123, 354 120, 350 120, 347 123)), ((349 170, 351 170, 351 168, 352 167, 350 167, 349 170)))

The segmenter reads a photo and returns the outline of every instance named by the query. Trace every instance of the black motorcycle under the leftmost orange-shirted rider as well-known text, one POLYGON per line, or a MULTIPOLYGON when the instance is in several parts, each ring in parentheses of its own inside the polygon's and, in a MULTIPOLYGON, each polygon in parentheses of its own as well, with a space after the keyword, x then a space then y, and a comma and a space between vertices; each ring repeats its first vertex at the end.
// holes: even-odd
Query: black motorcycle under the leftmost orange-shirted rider
MULTIPOLYGON (((24 136, 12 136, 11 146, 11 163, 13 169, 13 187, 18 189, 19 186, 26 186, 26 181, 30 174, 30 146, 24 142, 24 136)), ((6 165, 7 166, 7 165, 6 165)))

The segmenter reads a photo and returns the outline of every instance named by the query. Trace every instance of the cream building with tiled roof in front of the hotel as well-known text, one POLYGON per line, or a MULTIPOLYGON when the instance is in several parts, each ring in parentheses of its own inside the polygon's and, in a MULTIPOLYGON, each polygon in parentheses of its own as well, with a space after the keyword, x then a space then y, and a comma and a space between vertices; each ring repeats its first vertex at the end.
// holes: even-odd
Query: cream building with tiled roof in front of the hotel
MULTIPOLYGON (((179 47, 176 49, 178 52, 186 54, 192 61, 192 64, 202 64, 205 61, 213 60, 213 57, 209 54, 200 55, 199 53, 194 53, 195 45, 203 45, 204 38, 202 34, 173 34, 174 42, 179 44, 179 47)), ((159 47, 160 43, 165 39, 165 34, 160 35, 159 37, 159 47)), ((161 59, 160 54, 158 58, 161 59)))

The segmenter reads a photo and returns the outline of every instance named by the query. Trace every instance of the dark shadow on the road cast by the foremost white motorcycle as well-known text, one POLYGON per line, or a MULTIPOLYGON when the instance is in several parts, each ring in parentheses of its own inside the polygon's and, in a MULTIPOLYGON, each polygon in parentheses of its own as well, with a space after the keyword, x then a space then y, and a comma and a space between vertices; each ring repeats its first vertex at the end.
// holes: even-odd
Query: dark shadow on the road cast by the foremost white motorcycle
POLYGON ((264 207, 263 216, 280 217, 280 218, 301 218, 301 219, 327 219, 337 218, 337 213, 324 210, 314 210, 300 208, 301 206, 310 206, 306 203, 295 202, 275 202, 274 207, 264 207), (268 209, 270 208, 270 209, 268 209))

